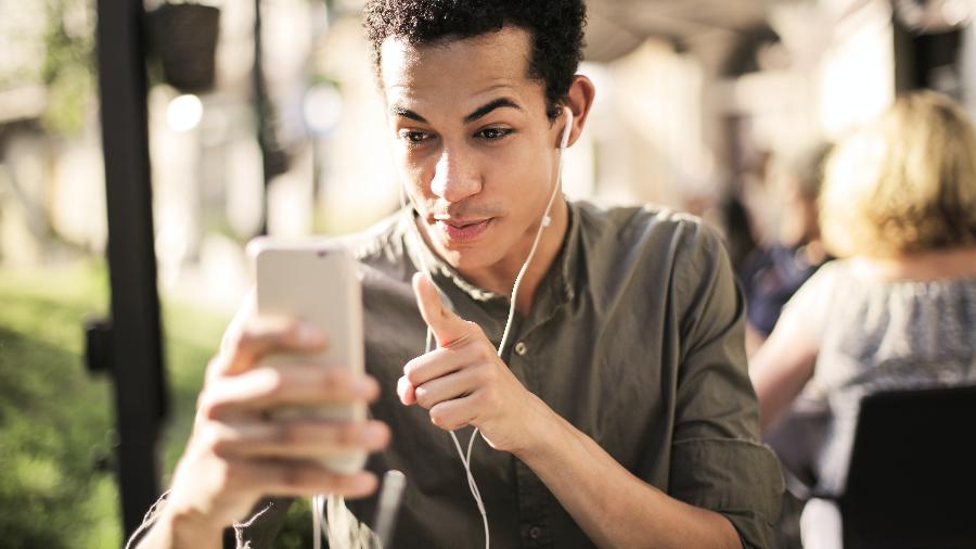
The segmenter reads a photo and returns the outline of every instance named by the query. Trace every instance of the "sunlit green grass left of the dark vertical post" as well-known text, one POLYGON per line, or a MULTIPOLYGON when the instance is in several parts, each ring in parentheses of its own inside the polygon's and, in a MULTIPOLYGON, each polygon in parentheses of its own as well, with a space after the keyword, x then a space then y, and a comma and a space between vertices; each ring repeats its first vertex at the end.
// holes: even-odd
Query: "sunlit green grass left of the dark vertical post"
POLYGON ((78 322, 104 307, 98 271, 0 272, 0 538, 4 547, 118 546, 108 385, 87 375, 78 322))

